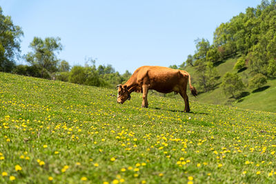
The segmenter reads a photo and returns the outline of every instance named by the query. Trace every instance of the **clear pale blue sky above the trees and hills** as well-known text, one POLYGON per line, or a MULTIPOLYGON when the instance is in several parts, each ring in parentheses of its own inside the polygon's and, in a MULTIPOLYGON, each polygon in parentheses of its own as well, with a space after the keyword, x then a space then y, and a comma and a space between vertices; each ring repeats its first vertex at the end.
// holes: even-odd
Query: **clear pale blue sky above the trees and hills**
POLYGON ((195 53, 195 39, 213 32, 261 0, 0 0, 19 25, 21 54, 34 37, 60 37, 58 55, 73 65, 96 59, 123 74, 141 65, 180 65, 195 53))

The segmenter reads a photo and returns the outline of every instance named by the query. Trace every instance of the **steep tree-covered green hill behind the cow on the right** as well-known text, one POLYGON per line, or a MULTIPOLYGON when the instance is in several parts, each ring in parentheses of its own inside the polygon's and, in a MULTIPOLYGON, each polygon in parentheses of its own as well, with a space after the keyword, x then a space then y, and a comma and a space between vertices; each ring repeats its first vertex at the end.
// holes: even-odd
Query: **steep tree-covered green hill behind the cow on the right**
MULTIPOLYGON (((197 101, 276 112, 275 18, 276 1, 263 0, 256 8, 248 7, 221 23, 214 31, 212 44, 206 39, 195 41, 195 54, 189 55, 179 67, 190 72, 193 83, 197 83, 200 92, 197 101), (228 96, 220 85, 226 72, 228 96), (235 87, 235 81, 239 81, 237 74, 244 89, 242 82, 235 87), (252 79, 268 79, 268 83, 249 89, 248 86, 253 86, 252 79)), ((177 68, 176 65, 172 67, 177 68)))

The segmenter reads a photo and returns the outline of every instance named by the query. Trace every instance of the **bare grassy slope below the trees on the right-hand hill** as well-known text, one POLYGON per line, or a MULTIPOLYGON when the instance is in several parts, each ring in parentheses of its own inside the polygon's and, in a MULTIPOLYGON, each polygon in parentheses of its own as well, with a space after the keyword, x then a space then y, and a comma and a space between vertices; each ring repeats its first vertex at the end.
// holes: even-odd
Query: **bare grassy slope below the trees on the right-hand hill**
MULTIPOLYGON (((202 103, 211 103, 211 104, 224 104, 224 105, 234 105, 239 108, 250 109, 250 110, 260 110, 267 112, 276 112, 276 80, 268 80, 268 83, 264 85, 259 91, 254 91, 244 89, 244 97, 241 99, 233 99, 230 96, 225 96, 223 90, 220 88, 219 84, 222 81, 222 77, 226 72, 236 72, 233 70, 233 67, 236 63, 236 58, 231 58, 226 60, 224 63, 221 63, 217 66, 217 71, 219 72, 220 78, 217 80, 217 88, 210 92, 204 92, 199 94, 195 101, 202 103)), ((193 77, 192 84, 195 85, 196 82, 196 70, 194 67, 186 67, 184 70, 190 73, 193 77)), ((248 83, 248 78, 250 74, 248 70, 239 72, 239 76, 242 78, 242 81, 245 85, 248 83)))

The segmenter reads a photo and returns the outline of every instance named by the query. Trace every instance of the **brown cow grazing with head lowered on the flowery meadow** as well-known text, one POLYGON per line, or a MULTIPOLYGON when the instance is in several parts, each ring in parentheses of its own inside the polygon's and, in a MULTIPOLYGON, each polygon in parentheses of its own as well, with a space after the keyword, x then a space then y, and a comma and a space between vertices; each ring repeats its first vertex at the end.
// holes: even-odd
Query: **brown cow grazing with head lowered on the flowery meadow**
MULTIPOLYGON (((186 94, 187 83, 190 85, 190 74, 184 70, 175 70, 161 66, 141 66, 132 74, 124 85, 117 85, 117 103, 124 103, 130 99, 132 92, 142 92, 142 108, 148 108, 148 90, 157 92, 179 93, 185 102, 185 112, 190 111, 188 96, 186 94)), ((197 96, 197 90, 190 85, 190 90, 197 96)))

